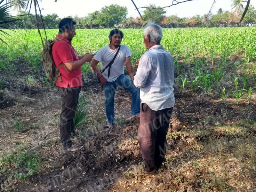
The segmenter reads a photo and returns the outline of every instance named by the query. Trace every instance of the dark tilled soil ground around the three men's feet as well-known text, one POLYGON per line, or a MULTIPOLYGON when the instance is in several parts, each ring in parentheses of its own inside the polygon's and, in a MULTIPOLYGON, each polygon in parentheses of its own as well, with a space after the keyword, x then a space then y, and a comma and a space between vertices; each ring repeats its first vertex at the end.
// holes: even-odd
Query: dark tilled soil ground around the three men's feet
MULTIPOLYGON (((19 73, 19 70, 17 73, 17 79, 26 79, 26 73, 19 73)), ((30 147, 47 138, 51 143, 47 145, 42 142, 40 151, 46 162, 43 169, 26 181, 13 182, 15 191, 200 191, 206 167, 201 165, 195 171, 192 161, 197 157, 190 153, 187 155, 186 152, 196 142, 207 142, 209 136, 232 137, 227 132, 216 132, 212 129, 214 125, 234 124, 238 119, 248 117, 255 120, 254 97, 250 105, 242 103, 237 107, 231 101, 223 102, 191 92, 181 94, 175 89, 176 100, 169 132, 184 132, 194 128, 209 129, 211 132, 194 138, 180 133, 168 139, 167 157, 176 161, 177 157, 186 156, 187 167, 179 167, 180 162, 177 161, 173 168, 179 169, 178 173, 167 169, 148 176, 136 171, 136 166, 142 162, 137 140, 140 120, 131 118, 130 93, 117 89, 115 113, 120 120, 115 127, 106 128, 104 95, 97 77, 88 73, 84 77, 82 92, 91 101, 88 107, 90 115, 88 122, 79 128, 80 131, 87 131, 73 138, 84 148, 69 153, 62 151, 59 141, 61 100, 57 89, 45 86, 41 80, 37 80, 36 84, 28 84, 16 82, 3 73, 1 75, 4 86, 0 92, 0 131, 4 138, 0 141, 0 152, 11 151, 16 140, 29 140, 30 147), (38 125, 39 128, 14 131, 11 124, 18 117, 28 127, 38 125)), ((204 161, 207 162, 207 159, 204 161)), ((27 170, 21 167, 16 171, 27 170)), ((0 176, 1 183, 7 180, 6 175, 7 172, 0 176)))

